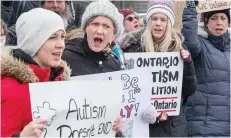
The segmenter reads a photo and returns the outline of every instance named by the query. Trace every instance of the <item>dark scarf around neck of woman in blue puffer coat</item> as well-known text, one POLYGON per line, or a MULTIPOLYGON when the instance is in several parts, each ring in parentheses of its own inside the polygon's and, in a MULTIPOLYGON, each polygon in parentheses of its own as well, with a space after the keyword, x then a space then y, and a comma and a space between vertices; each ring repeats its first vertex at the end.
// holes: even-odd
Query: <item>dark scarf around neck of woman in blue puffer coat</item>
POLYGON ((214 36, 210 33, 208 40, 220 51, 230 51, 230 34, 228 31, 220 36, 214 36))

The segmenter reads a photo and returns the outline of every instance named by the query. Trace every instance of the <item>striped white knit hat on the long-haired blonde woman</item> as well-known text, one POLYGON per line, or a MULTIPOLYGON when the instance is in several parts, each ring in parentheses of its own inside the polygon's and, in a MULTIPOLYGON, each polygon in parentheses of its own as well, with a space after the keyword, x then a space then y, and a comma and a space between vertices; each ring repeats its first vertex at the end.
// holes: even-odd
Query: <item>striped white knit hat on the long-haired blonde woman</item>
POLYGON ((154 13, 164 13, 168 16, 172 26, 175 23, 174 4, 172 0, 150 0, 148 3, 147 21, 154 13))

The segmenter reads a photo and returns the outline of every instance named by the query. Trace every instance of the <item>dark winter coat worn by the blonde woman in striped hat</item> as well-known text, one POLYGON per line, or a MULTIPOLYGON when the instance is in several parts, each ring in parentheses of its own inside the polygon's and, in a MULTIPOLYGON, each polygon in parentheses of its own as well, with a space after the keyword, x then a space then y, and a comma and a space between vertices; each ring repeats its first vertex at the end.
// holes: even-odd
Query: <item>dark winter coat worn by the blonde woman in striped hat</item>
MULTIPOLYGON (((141 47, 141 35, 144 30, 128 33, 120 43, 124 52, 144 52, 141 47)), ((185 107, 187 99, 196 90, 196 76, 193 62, 184 64, 182 100, 179 116, 170 116, 167 121, 149 125, 150 137, 185 137, 187 136, 187 121, 185 119, 185 107)))

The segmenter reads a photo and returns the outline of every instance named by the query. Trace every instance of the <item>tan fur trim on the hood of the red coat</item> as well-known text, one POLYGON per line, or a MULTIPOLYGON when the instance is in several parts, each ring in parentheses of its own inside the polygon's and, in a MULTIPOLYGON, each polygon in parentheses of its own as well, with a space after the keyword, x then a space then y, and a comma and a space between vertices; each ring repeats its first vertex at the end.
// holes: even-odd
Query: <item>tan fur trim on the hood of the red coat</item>
MULTIPOLYGON (((38 82, 38 77, 33 70, 20 59, 12 56, 11 50, 13 47, 1 47, 1 76, 10 76, 15 78, 20 83, 34 83, 38 82)), ((69 80, 71 70, 67 66, 66 62, 61 61, 61 65, 64 68, 64 73, 61 76, 61 80, 69 80)))

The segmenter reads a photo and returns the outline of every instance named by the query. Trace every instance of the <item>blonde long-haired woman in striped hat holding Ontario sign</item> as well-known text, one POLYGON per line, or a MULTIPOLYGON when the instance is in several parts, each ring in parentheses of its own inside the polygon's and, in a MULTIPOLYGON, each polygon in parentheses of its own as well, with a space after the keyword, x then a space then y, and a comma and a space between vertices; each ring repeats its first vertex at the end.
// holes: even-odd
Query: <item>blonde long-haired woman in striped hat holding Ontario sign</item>
MULTIPOLYGON (((127 34, 120 43, 124 52, 180 52, 184 61, 180 114, 168 117, 167 112, 162 112, 157 120, 149 122, 150 137, 187 136, 185 108, 188 97, 195 92, 197 80, 191 55, 182 44, 183 37, 173 29, 174 21, 174 4, 171 0, 150 0, 146 29, 127 34)), ((154 107, 147 109, 155 110, 154 107)))

